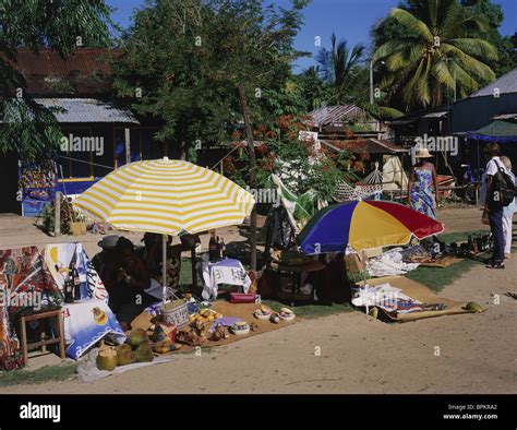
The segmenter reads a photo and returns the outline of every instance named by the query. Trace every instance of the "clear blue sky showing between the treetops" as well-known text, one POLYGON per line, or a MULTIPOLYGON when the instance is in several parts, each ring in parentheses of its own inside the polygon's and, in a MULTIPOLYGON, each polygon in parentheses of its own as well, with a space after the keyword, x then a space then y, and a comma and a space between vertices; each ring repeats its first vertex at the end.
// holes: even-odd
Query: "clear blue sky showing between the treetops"
MULTIPOLYGON (((272 1, 288 7, 288 0, 272 1)), ((503 35, 512 35, 517 31, 517 0, 495 0, 503 7, 505 21, 500 27, 503 35)), ((350 45, 370 45, 370 29, 378 20, 387 15, 398 0, 313 0, 304 10, 304 24, 296 38, 296 48, 316 53, 321 47, 315 46, 316 36, 321 37, 322 46, 329 47, 330 35, 346 38, 350 45)), ((112 17, 122 27, 129 26, 135 8, 143 4, 142 0, 108 0, 108 4, 117 10, 112 17)), ((313 58, 297 61, 298 72, 314 64, 313 58)))

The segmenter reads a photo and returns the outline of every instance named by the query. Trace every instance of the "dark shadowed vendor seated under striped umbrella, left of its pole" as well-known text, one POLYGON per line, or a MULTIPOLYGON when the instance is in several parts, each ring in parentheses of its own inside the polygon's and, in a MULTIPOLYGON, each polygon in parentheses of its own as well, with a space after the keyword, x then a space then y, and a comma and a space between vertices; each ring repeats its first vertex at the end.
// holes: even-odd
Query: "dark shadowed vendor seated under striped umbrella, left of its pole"
POLYGON ((103 280, 109 294, 108 304, 122 330, 128 331, 135 316, 157 299, 144 291, 151 286, 151 277, 133 243, 121 237, 115 252, 117 258, 106 263, 103 280))

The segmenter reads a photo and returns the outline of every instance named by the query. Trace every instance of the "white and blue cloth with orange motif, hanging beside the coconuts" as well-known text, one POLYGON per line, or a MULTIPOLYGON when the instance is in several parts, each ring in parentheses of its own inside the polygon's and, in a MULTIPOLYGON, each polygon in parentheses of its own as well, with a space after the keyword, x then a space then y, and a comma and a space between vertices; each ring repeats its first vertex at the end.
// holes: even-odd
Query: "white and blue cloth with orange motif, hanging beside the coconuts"
POLYGON ((113 335, 119 344, 125 341, 124 332, 104 300, 65 303, 62 312, 64 339, 69 345, 67 356, 70 358, 76 360, 108 334, 113 335))

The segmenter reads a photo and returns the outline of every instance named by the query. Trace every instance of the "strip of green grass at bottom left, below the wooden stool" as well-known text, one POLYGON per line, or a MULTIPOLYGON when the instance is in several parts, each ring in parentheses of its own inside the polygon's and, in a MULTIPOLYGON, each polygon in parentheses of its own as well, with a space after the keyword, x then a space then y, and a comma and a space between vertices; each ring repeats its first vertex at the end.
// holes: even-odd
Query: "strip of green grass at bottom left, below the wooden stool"
POLYGON ((21 385, 21 384, 40 384, 48 381, 65 381, 75 378, 76 363, 67 363, 61 366, 46 366, 37 370, 12 370, 0 372, 0 387, 21 385))

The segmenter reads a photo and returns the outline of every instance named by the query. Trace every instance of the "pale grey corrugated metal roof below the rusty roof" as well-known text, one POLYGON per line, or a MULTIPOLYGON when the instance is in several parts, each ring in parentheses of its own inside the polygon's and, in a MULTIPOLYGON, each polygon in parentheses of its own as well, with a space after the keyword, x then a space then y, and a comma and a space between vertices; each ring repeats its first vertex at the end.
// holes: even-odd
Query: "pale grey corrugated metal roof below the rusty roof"
POLYGON ((96 98, 35 98, 34 100, 47 108, 64 109, 65 111, 55 112, 58 122, 140 123, 130 110, 96 98))

